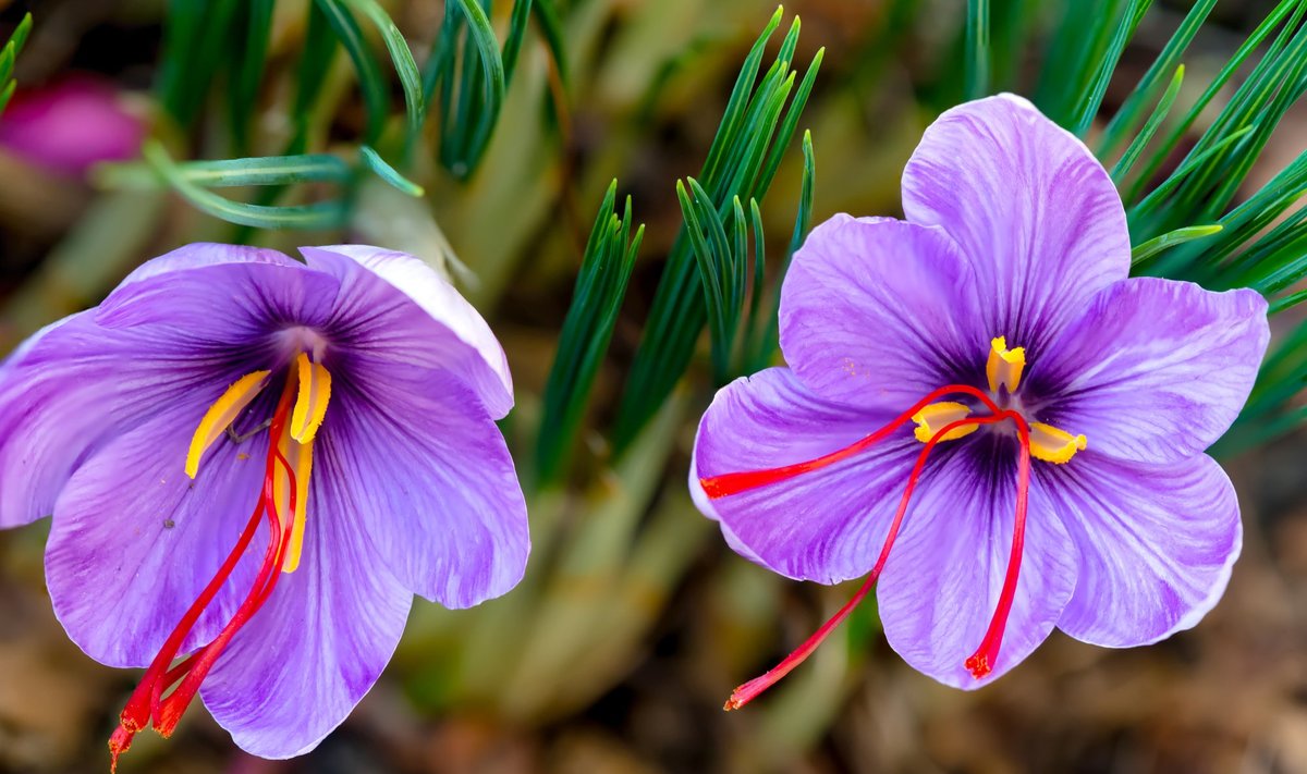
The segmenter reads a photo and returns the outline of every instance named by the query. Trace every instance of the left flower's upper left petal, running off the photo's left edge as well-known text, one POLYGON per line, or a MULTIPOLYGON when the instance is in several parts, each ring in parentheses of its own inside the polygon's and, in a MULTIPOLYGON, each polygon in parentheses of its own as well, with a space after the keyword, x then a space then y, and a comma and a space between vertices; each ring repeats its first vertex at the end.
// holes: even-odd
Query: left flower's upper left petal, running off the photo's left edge
MULTIPOLYGON (((293 315, 325 319, 339 285, 278 255, 174 251, 24 343, 0 370, 0 527, 50 515, 72 472, 118 434, 280 365, 280 329, 293 315)), ((205 408, 171 431, 190 438, 205 408)))

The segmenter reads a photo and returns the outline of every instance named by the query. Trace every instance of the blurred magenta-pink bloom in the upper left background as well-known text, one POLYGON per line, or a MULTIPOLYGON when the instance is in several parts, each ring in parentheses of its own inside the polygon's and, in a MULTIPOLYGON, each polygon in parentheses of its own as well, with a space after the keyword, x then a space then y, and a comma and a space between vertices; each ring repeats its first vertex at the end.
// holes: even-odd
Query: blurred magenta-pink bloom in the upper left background
POLYGON ((0 122, 0 146, 37 166, 80 178, 95 162, 135 157, 145 132, 145 122, 123 107, 108 81, 74 76, 20 89, 0 122))

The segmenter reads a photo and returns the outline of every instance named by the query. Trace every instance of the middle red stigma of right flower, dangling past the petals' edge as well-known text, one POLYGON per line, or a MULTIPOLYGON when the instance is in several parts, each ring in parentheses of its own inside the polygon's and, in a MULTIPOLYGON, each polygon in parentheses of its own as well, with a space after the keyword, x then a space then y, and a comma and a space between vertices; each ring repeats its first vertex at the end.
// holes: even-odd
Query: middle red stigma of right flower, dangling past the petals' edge
MULTIPOLYGON (((935 400, 935 396, 938 392, 940 392, 938 390, 936 392, 932 392, 931 396, 928 396, 928 399, 925 399, 923 403, 929 403, 935 400)), ((995 409, 997 409, 997 407, 995 407, 995 409)), ((914 411, 912 413, 916 412, 914 411)), ((987 414, 980 417, 967 417, 950 422, 944 428, 940 428, 940 430, 936 431, 929 441, 927 441, 925 447, 921 448, 921 452, 916 458, 916 464, 912 465, 912 472, 908 475, 907 480, 907 488, 903 490, 903 497, 899 499, 898 510, 894 513, 894 520, 890 522, 889 533, 885 536, 885 545, 881 548, 881 554, 876 560, 876 566, 872 567, 870 574, 867 575, 867 580, 863 582, 863 586, 857 590, 857 594, 855 594, 852 599, 844 603, 844 607, 839 608, 839 611, 836 611, 834 616, 831 616, 825 624, 822 624, 821 628, 812 634, 812 637, 805 639, 802 645, 795 648, 795 651, 791 652, 788 656, 786 656, 779 664, 769 669, 765 675, 754 677, 753 680, 745 682, 744 685, 731 692, 731 698, 727 699, 727 703, 723 709, 728 711, 738 710, 740 707, 745 706, 746 703, 757 698, 758 694, 775 685, 782 677, 788 675, 795 667, 797 667, 808 656, 810 656, 813 651, 817 650, 817 646, 819 646, 822 641, 825 641, 826 637, 829 637, 830 633, 834 631, 835 628, 839 626, 859 604, 861 604, 863 599, 867 597, 872 587, 876 586, 876 580, 880 578, 881 570, 885 569, 885 562, 889 560, 890 549, 894 547, 894 540, 898 537, 899 527, 903 524, 903 518, 907 514, 907 507, 912 499, 912 493, 916 490, 916 484, 921 477, 921 471, 925 469, 925 463, 929 459, 931 452, 935 450, 935 447, 954 430, 968 426, 989 425, 993 422, 1001 422, 1004 420, 1014 417, 1018 418, 1019 421, 1019 417, 1017 417, 1017 414, 1014 414, 1013 412, 996 411, 996 413, 993 414, 987 414)), ((899 420, 895 420, 895 422, 897 424, 891 424, 894 428, 902 425, 903 417, 899 417, 899 420)), ((877 430, 877 433, 881 431, 877 430)), ((876 433, 873 433, 872 435, 876 435, 876 433)), ((868 435, 868 438, 870 438, 872 435, 868 435)), ((1029 465, 1029 458, 1027 458, 1027 465, 1029 465)), ((1004 616, 1004 618, 1006 618, 1006 616, 1004 616)), ((997 654, 997 647, 995 648, 995 652, 997 654)))

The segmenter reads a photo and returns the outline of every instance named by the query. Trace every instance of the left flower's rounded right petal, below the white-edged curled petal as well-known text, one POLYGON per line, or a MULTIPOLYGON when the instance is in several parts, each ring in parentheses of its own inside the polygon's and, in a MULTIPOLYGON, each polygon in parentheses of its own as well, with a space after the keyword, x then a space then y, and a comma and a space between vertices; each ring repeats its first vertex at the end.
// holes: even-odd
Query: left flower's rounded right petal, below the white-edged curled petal
POLYGON ((315 479, 331 481, 333 498, 349 490, 354 507, 341 516, 363 526, 404 587, 448 608, 507 592, 531 537, 499 429, 447 371, 391 365, 371 377, 332 396, 315 479))

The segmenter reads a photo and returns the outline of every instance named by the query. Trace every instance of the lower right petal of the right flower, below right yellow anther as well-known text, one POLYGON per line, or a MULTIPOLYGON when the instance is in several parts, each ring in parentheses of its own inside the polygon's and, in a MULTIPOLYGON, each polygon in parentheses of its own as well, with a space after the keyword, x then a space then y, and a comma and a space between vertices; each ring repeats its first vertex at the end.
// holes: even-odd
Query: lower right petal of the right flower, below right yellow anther
POLYGON ((1243 527, 1212 458, 1144 465, 1090 451, 1043 479, 1081 556, 1059 629, 1107 647, 1146 645, 1192 628, 1221 599, 1243 527))

